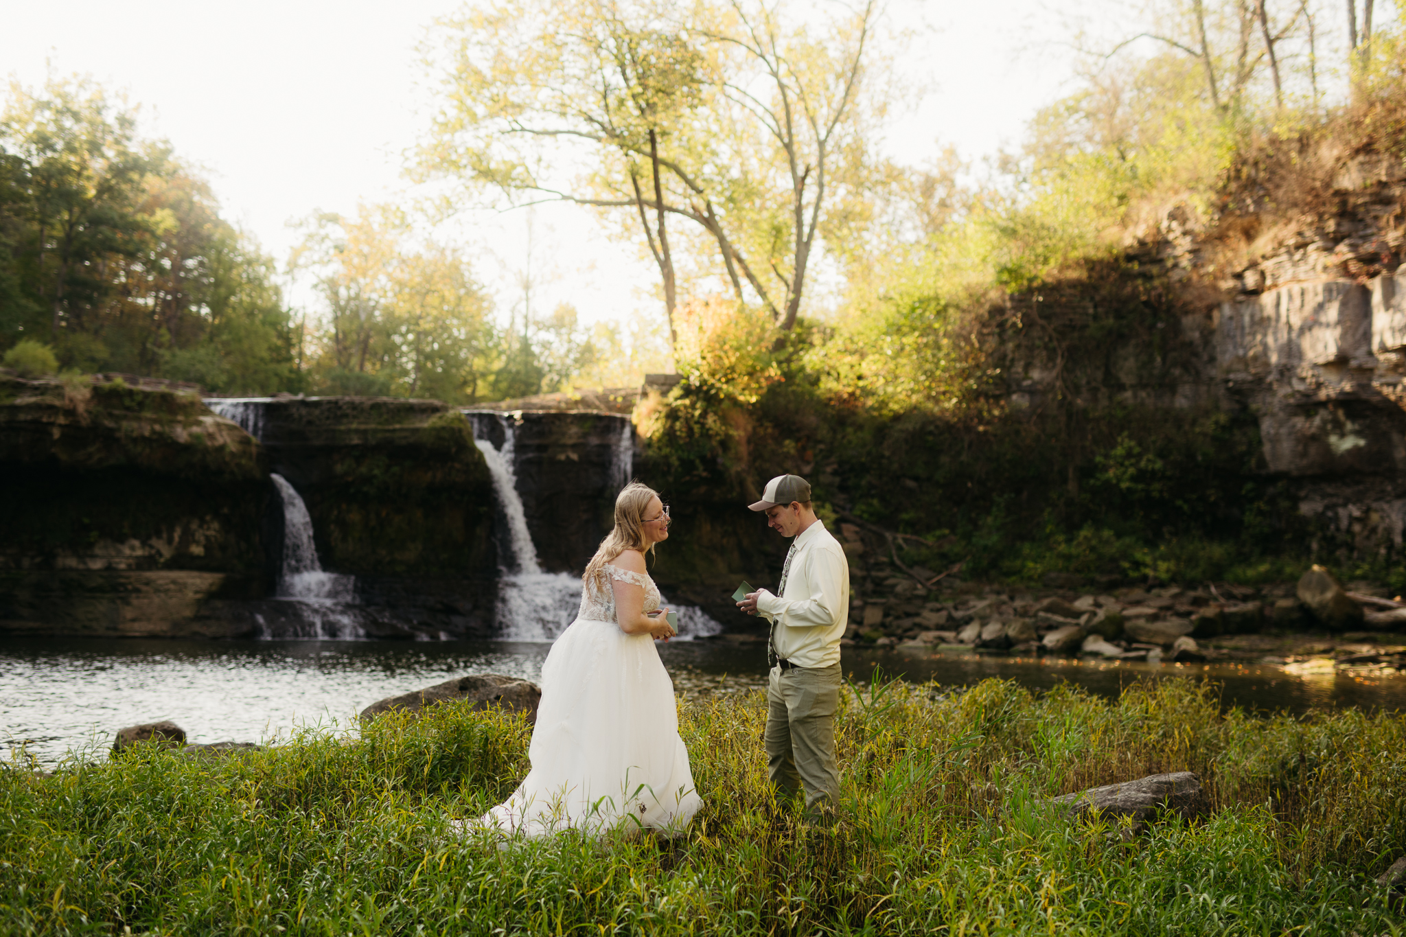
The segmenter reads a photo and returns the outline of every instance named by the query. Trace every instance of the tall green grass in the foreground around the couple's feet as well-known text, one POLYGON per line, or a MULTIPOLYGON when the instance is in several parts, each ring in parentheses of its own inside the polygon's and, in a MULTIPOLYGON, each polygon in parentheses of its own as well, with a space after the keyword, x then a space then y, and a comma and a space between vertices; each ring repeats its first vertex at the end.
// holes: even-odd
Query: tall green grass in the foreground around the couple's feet
POLYGON ((529 739, 453 705, 226 760, 0 771, 0 933, 1403 933, 1371 881, 1406 853, 1399 714, 1250 716, 1171 680, 860 687, 830 829, 773 809, 763 719, 756 695, 681 707, 706 806, 678 843, 446 840, 529 739), (1042 804, 1171 770, 1201 773, 1209 820, 1122 844, 1042 804))

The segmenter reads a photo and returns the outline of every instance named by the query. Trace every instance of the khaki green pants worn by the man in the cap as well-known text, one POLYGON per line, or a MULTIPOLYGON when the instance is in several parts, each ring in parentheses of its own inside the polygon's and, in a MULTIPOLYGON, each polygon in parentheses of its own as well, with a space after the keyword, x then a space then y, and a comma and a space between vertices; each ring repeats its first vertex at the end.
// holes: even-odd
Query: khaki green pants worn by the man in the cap
POLYGON ((785 795, 806 787, 806 809, 839 804, 835 709, 839 664, 772 667, 766 681, 766 759, 772 784, 785 795))

